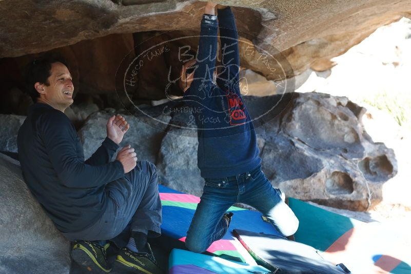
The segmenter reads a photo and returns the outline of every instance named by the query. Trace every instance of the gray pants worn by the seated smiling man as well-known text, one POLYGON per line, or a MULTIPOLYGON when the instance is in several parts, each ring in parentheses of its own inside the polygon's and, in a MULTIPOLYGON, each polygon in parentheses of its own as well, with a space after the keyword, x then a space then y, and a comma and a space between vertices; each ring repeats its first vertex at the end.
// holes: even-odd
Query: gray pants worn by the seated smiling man
POLYGON ((106 186, 108 206, 102 217, 80 232, 63 233, 70 241, 110 240, 124 247, 131 231, 161 234, 161 200, 154 164, 141 161, 124 178, 106 186))

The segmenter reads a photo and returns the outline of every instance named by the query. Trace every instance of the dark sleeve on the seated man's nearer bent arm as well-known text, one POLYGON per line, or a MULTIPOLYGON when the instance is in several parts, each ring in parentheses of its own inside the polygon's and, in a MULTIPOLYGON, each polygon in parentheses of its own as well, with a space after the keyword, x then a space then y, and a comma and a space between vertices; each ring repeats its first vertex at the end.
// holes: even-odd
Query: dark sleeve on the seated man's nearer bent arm
POLYGON ((89 165, 79 159, 75 143, 80 142, 75 137, 77 132, 63 112, 55 110, 43 114, 38 119, 37 127, 63 185, 72 188, 98 187, 124 176, 124 168, 119 161, 89 165))

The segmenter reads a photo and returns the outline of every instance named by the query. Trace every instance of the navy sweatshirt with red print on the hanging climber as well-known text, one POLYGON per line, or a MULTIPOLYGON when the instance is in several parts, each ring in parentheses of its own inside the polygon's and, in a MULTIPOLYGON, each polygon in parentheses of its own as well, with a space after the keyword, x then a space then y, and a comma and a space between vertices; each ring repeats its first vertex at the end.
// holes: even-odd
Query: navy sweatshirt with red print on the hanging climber
POLYGON ((238 33, 230 7, 215 16, 203 15, 194 80, 184 101, 194 111, 198 128, 198 166, 203 178, 221 178, 243 173, 261 163, 257 136, 239 87, 238 33), (222 67, 217 85, 217 31, 220 27, 222 67))

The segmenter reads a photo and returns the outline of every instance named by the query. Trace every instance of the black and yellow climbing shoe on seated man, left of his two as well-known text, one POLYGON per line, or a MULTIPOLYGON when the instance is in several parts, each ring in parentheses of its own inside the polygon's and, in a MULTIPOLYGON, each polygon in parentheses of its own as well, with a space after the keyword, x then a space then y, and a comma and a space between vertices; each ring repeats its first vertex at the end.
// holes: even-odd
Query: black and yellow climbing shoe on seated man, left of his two
POLYGON ((108 273, 111 271, 106 257, 108 247, 108 243, 103 247, 95 242, 77 241, 71 250, 71 258, 87 273, 108 273))

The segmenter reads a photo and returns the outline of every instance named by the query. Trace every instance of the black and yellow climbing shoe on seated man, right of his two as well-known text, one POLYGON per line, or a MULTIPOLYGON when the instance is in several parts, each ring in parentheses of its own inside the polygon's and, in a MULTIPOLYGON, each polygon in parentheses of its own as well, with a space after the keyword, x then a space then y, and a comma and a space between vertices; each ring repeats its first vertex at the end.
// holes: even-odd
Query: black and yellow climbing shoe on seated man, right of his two
POLYGON ((128 248, 121 249, 114 261, 113 269, 119 273, 163 274, 148 243, 147 249, 148 253, 133 252, 128 248))

